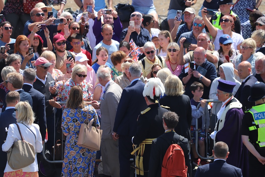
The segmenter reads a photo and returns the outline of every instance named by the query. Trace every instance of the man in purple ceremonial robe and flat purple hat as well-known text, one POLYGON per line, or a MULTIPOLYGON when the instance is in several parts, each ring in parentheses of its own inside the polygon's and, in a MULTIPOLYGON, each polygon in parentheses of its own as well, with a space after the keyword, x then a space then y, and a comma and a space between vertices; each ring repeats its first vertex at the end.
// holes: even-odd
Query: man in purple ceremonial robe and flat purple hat
POLYGON ((242 104, 233 96, 233 89, 236 83, 226 80, 218 80, 218 82, 216 96, 223 104, 217 113, 218 120, 214 132, 210 136, 214 140, 214 144, 223 141, 228 145, 230 155, 226 162, 241 168, 242 173, 247 175, 248 153, 240 136, 241 121, 244 113, 242 104))

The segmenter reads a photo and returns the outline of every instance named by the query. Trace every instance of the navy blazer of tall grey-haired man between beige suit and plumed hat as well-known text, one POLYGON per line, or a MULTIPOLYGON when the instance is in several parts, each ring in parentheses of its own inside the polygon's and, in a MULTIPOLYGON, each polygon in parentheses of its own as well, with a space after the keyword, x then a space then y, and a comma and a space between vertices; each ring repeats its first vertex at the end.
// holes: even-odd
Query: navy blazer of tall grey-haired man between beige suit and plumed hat
POLYGON ((134 136, 137 129, 137 118, 147 108, 142 95, 145 84, 141 80, 134 81, 123 89, 118 104, 113 132, 119 135, 134 136))

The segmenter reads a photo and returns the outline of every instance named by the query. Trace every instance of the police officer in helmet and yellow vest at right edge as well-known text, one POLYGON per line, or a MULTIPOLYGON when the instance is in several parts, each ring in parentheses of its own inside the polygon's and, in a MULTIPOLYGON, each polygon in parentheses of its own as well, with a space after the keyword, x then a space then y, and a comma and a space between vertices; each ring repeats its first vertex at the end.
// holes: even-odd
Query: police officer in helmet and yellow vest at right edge
POLYGON ((248 101, 255 106, 246 111, 242 120, 242 141, 250 152, 249 176, 265 175, 265 84, 257 81, 250 88, 248 101), (248 140, 249 139, 249 140, 248 140))

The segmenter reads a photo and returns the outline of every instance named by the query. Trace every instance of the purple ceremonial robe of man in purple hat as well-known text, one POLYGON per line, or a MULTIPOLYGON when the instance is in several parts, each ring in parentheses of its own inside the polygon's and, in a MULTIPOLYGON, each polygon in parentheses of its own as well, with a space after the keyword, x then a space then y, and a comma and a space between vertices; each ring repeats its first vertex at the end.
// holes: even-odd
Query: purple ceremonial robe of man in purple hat
POLYGON ((243 177, 248 176, 248 149, 241 139, 241 122, 244 112, 240 108, 227 111, 224 127, 217 132, 215 141, 223 141, 228 145, 229 155, 226 162, 242 170, 243 177))

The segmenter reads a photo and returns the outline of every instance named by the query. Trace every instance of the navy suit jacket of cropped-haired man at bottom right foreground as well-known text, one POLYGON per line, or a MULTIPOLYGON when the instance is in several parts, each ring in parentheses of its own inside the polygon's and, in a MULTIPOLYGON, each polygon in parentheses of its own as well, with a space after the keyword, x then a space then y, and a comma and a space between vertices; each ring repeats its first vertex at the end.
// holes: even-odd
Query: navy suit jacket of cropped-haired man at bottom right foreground
POLYGON ((224 160, 215 160, 211 164, 199 166, 195 177, 242 177, 242 171, 224 160))

